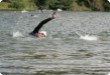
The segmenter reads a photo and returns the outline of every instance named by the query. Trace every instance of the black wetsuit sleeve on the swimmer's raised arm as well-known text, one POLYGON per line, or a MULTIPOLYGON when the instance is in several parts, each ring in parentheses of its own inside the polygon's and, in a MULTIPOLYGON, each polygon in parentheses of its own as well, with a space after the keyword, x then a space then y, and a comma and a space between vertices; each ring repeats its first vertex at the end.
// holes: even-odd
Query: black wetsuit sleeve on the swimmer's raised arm
POLYGON ((51 21, 52 18, 47 18, 43 21, 41 21, 38 26, 30 33, 31 35, 35 35, 39 32, 39 30, 43 27, 44 24, 46 24, 47 22, 51 21))

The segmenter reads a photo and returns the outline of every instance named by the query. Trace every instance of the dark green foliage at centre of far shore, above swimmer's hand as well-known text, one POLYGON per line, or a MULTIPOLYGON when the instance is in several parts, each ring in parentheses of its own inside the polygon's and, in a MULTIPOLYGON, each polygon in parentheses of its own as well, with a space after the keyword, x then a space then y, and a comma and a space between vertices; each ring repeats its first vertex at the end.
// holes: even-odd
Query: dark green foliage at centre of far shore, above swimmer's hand
POLYGON ((35 0, 36 4, 42 9, 64 9, 70 10, 74 0, 35 0))

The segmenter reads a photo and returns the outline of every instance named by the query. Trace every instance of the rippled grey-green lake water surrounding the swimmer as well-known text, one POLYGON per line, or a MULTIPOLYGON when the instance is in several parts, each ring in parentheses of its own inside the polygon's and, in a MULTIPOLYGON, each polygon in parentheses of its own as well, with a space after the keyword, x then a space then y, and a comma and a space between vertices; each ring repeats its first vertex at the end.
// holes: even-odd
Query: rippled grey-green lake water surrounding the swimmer
POLYGON ((107 75, 110 72, 110 13, 0 11, 0 72, 3 75, 107 75))

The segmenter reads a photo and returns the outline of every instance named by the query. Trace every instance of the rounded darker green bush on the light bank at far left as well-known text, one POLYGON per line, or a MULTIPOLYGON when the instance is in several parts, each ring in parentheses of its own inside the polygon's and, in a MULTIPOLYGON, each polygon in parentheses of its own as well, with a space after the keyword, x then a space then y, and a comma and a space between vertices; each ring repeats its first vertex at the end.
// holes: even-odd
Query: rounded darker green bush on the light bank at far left
POLYGON ((10 3, 9 8, 24 9, 25 5, 22 0, 13 0, 10 3))

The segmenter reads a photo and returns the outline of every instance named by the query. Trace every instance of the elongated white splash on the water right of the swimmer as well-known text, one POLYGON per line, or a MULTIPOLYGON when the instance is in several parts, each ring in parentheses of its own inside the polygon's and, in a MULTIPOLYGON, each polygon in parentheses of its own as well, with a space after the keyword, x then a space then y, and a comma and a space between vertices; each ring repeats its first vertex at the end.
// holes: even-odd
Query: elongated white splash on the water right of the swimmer
POLYGON ((79 37, 80 39, 83 39, 83 40, 87 40, 87 41, 97 41, 98 40, 98 37, 97 36, 94 36, 94 35, 89 35, 89 34, 81 34, 79 32, 75 32, 79 37))

